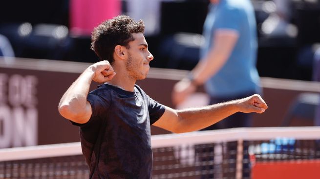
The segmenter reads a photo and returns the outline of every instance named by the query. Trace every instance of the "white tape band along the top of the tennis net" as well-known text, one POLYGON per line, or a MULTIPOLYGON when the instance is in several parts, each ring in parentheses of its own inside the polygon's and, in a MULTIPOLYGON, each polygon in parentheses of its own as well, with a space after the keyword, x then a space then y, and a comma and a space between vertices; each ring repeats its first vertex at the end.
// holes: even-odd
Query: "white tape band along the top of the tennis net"
MULTIPOLYGON (((213 131, 195 131, 183 134, 151 136, 152 148, 184 144, 220 143, 231 141, 270 140, 295 138, 296 140, 319 139, 320 126, 308 127, 243 127, 213 131)), ((40 159, 49 157, 81 155, 81 144, 60 143, 0 149, 0 161, 40 159)))

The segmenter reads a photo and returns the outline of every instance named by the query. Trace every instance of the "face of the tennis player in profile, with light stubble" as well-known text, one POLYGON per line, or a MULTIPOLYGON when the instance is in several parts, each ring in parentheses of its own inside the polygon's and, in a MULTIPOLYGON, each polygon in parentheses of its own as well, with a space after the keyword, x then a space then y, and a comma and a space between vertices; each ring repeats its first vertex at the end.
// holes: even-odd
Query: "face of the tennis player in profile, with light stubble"
POLYGON ((136 80, 142 80, 147 77, 150 66, 149 62, 153 60, 153 55, 148 50, 148 44, 142 33, 132 34, 135 40, 129 42, 128 60, 126 70, 128 75, 136 80))

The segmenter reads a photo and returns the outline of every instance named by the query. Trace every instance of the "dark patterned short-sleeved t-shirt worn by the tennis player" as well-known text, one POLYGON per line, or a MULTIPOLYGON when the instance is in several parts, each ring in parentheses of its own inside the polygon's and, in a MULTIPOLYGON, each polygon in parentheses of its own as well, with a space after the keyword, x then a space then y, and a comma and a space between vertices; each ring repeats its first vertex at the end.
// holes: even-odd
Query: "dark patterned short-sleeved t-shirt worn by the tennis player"
POLYGON ((90 179, 151 179, 150 125, 165 107, 139 86, 134 91, 103 84, 88 94, 90 120, 80 126, 90 179))

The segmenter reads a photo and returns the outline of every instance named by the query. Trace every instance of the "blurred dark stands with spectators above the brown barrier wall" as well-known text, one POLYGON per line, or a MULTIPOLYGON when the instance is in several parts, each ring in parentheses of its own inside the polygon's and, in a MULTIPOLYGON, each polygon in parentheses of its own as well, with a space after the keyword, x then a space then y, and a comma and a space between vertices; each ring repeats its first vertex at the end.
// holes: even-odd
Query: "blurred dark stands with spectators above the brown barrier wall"
MULTIPOLYGON (((319 79, 320 2, 251 2, 256 15, 259 75, 319 79)), ((7 0, 2 4, 0 55, 6 60, 26 57, 95 62, 97 57, 89 48, 93 27, 125 14, 145 21, 150 52, 160 59, 152 62, 152 67, 191 70, 204 44, 202 28, 209 0, 7 0)))

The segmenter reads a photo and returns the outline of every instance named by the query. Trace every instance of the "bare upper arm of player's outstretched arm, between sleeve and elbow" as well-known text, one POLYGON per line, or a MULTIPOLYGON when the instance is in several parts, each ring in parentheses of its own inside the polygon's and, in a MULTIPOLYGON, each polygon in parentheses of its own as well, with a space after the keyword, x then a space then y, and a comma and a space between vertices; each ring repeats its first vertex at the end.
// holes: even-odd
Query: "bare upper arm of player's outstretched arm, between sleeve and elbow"
POLYGON ((157 120, 153 125, 169 130, 171 132, 176 132, 179 126, 180 118, 176 110, 166 107, 163 115, 157 120))

